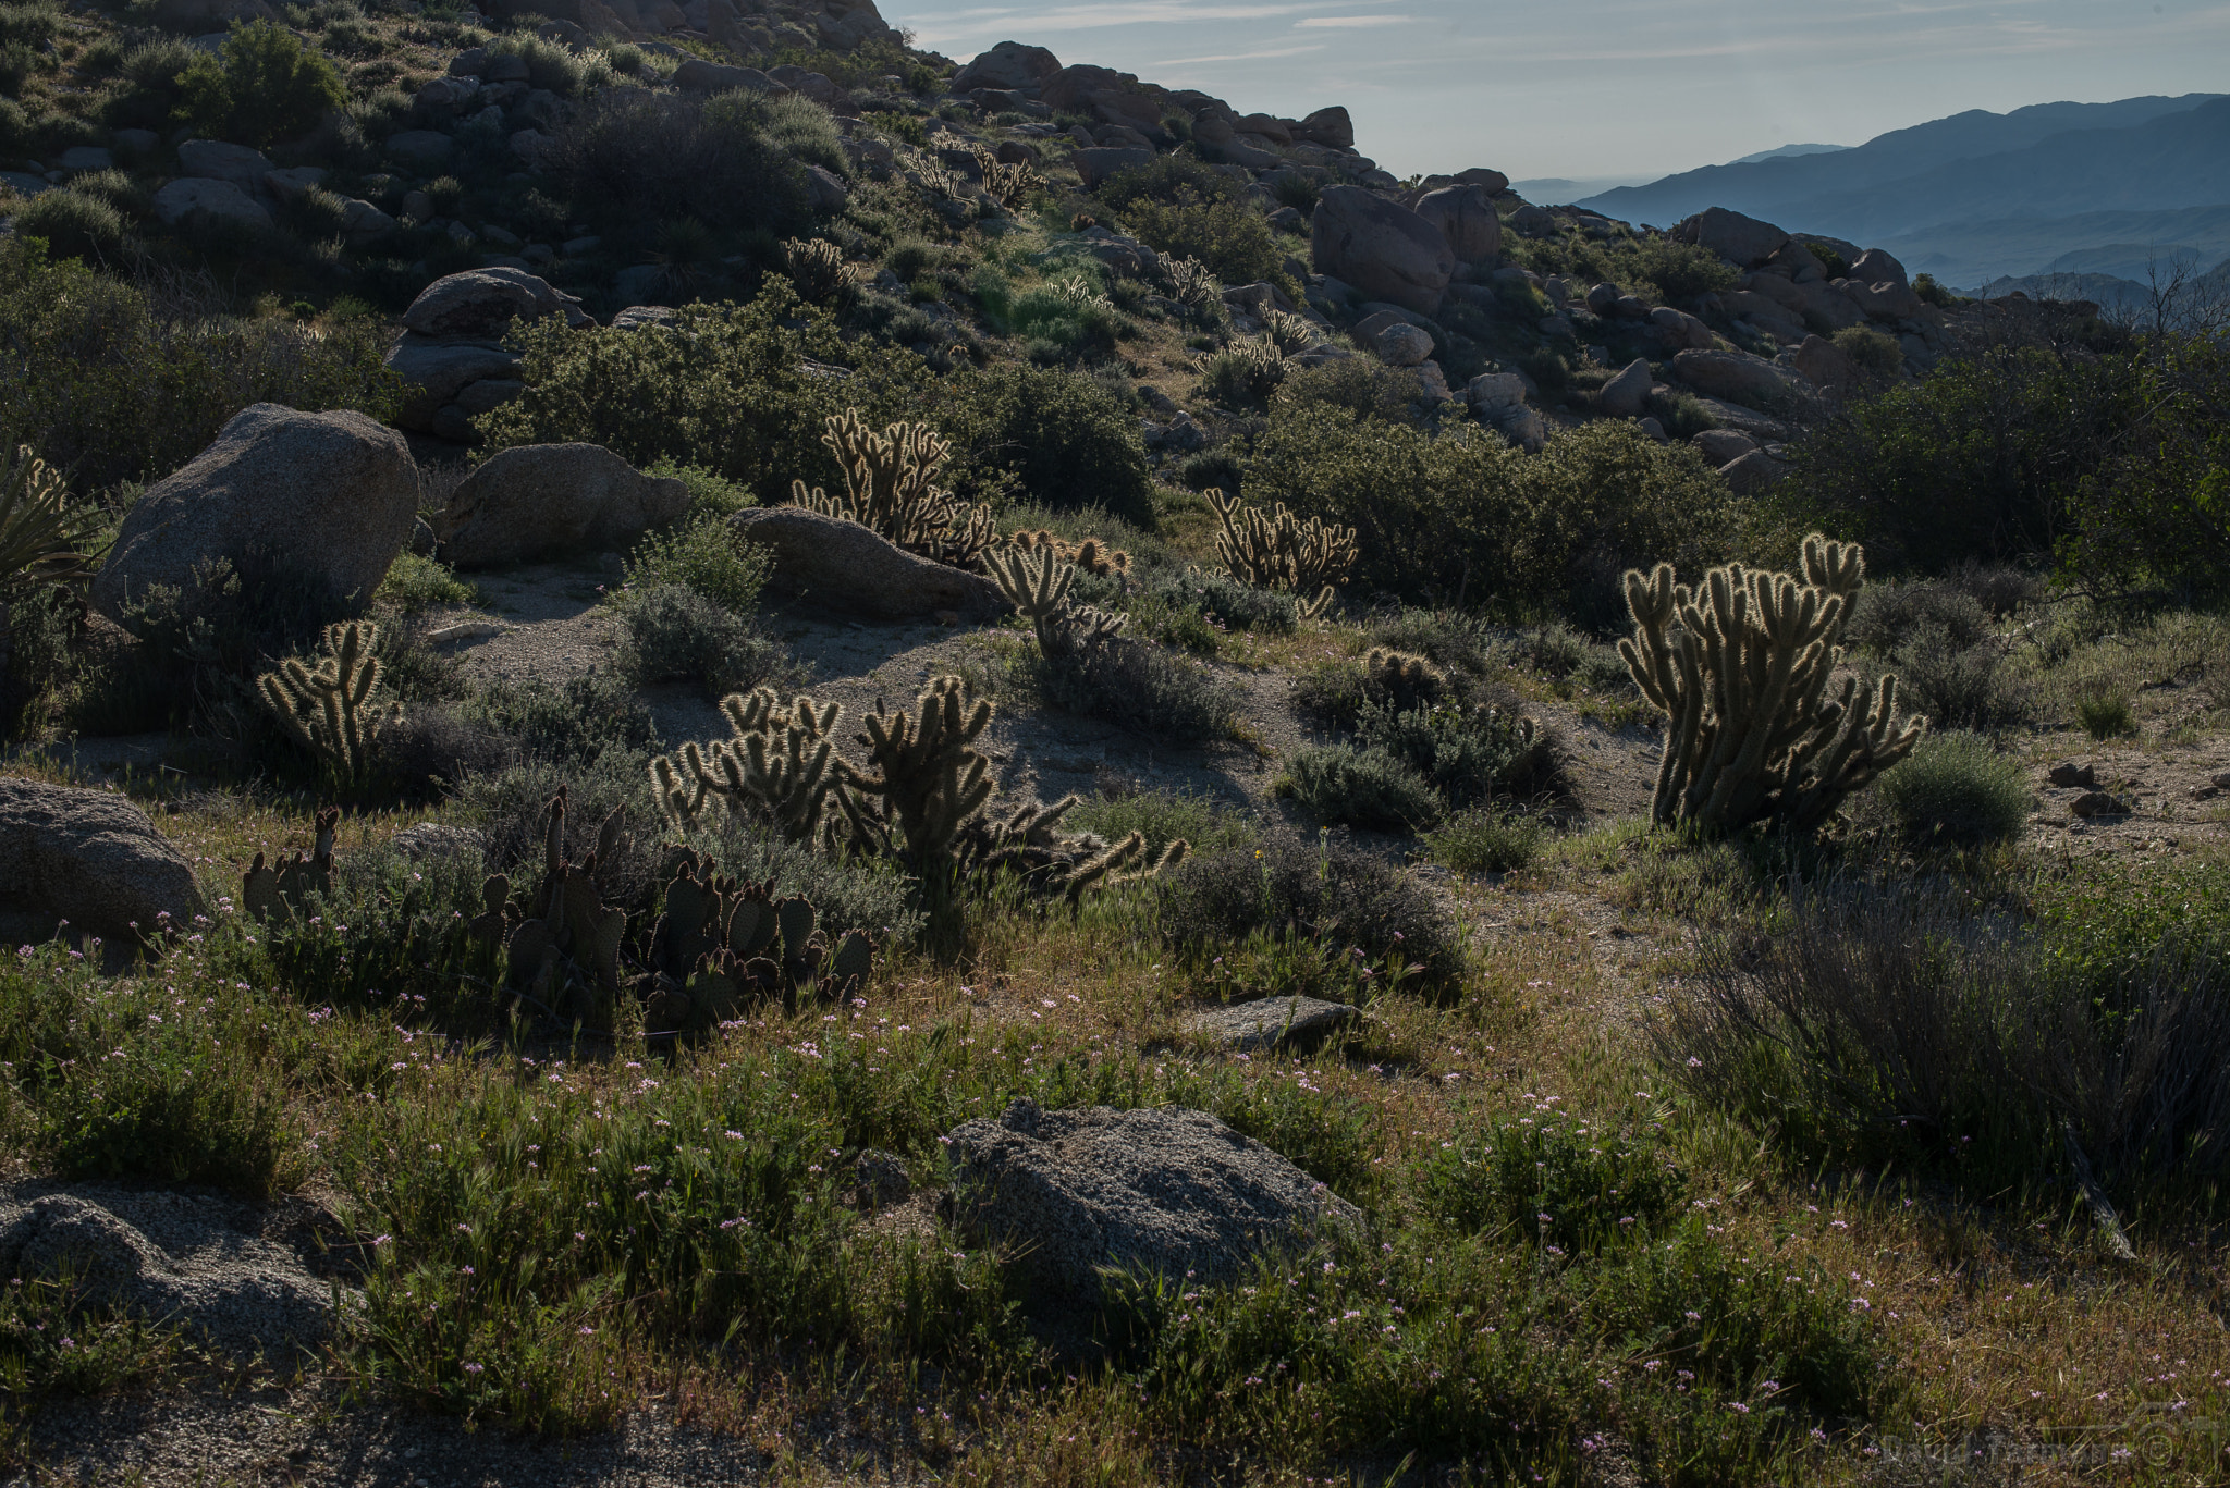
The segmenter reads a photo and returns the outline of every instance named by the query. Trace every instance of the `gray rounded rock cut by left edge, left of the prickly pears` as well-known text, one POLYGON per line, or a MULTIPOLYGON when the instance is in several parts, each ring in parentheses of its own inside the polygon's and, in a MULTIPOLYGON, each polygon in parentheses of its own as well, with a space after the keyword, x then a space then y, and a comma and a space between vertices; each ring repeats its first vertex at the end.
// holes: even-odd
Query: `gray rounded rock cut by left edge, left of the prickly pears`
POLYGON ((147 812, 114 790, 25 779, 0 779, 0 901, 114 939, 203 908, 194 866, 147 812))

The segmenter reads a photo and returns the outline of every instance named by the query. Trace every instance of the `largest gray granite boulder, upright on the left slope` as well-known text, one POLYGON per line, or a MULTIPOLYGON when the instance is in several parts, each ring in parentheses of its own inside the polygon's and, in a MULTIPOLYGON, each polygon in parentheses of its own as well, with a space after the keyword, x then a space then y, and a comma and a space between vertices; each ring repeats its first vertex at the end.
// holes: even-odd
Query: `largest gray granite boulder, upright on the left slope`
POLYGON ((156 482, 94 578, 94 609, 123 618, 149 584, 187 589, 196 564, 254 555, 319 584, 334 609, 370 598, 417 520, 417 464, 392 428, 361 413, 256 404, 210 448, 156 482))

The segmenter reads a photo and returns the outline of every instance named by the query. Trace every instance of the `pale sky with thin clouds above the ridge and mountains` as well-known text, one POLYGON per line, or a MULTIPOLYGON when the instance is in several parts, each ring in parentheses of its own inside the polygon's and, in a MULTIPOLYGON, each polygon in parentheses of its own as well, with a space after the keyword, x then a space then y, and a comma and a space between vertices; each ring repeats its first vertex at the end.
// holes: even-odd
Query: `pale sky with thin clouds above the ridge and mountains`
POLYGON ((2230 0, 881 0, 914 45, 1048 47, 1235 109, 1331 103, 1398 176, 1657 178, 1965 109, 2230 91, 2230 0))

